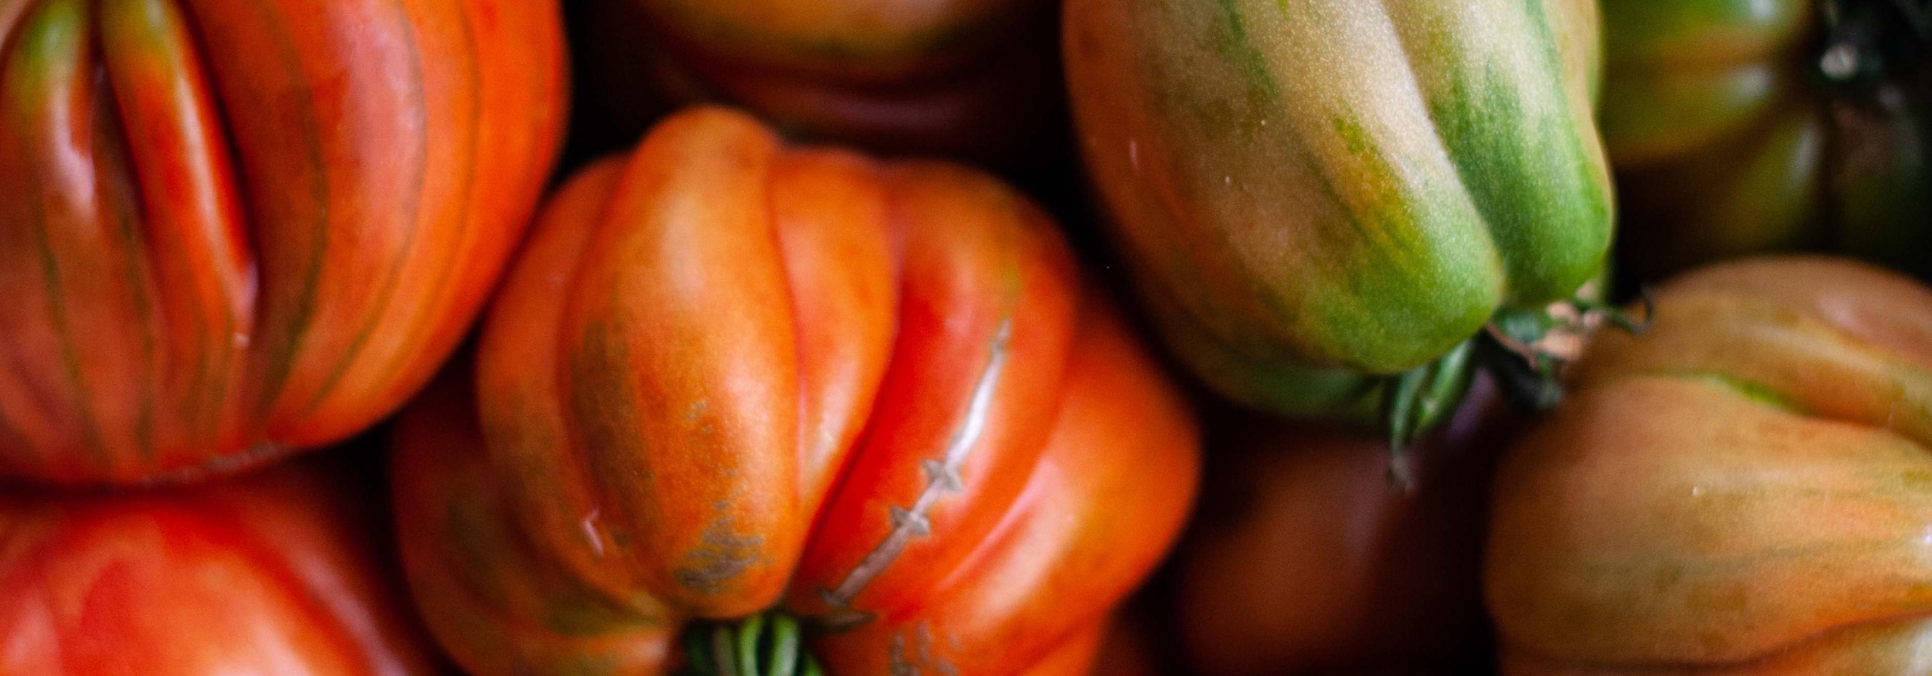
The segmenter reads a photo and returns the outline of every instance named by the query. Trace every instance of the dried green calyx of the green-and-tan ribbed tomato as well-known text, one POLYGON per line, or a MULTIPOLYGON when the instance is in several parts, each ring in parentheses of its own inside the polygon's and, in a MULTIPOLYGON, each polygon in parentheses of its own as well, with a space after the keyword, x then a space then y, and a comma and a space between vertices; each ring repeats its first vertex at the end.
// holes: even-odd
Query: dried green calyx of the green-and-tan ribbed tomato
POLYGON ((1648 294, 1642 296, 1642 305, 1644 319, 1586 296, 1536 309, 1501 309, 1482 332, 1449 353, 1389 377, 1381 402, 1389 435, 1389 483, 1414 491, 1408 448, 1416 437, 1455 413, 1476 371, 1488 371, 1515 409, 1546 413, 1563 402, 1559 373, 1582 353, 1584 336, 1605 324, 1642 334, 1650 317, 1648 294))

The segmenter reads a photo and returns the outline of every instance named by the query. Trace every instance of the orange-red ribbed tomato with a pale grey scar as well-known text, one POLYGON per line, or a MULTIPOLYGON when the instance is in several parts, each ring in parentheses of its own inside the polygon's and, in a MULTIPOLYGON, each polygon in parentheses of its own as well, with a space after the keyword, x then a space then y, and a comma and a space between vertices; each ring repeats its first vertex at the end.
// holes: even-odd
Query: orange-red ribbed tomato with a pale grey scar
POLYGON ((473 388, 396 446, 412 585, 477 674, 659 674, 740 618, 833 674, 1084 668, 1198 464, 1024 197, 719 108, 562 187, 473 388))

